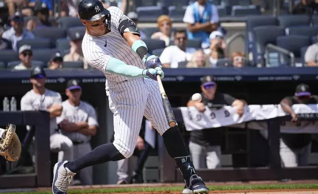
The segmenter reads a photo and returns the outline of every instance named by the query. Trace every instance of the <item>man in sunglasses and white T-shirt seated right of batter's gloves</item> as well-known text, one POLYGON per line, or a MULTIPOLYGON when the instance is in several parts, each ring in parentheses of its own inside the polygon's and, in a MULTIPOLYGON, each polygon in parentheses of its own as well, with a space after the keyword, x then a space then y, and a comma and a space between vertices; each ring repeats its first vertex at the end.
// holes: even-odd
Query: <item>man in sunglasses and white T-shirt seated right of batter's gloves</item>
POLYGON ((178 63, 189 61, 195 51, 195 48, 187 48, 186 31, 178 30, 174 34, 174 45, 164 48, 159 58, 164 68, 178 68, 178 63))

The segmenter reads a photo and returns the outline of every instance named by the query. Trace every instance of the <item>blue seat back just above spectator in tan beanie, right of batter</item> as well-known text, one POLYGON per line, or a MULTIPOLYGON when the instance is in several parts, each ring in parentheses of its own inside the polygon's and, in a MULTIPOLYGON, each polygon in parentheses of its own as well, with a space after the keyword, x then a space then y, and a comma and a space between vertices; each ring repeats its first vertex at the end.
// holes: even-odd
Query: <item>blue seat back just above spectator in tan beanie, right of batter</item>
POLYGON ((157 22, 160 15, 169 14, 168 8, 161 6, 137 7, 136 12, 138 13, 138 20, 140 22, 157 22))

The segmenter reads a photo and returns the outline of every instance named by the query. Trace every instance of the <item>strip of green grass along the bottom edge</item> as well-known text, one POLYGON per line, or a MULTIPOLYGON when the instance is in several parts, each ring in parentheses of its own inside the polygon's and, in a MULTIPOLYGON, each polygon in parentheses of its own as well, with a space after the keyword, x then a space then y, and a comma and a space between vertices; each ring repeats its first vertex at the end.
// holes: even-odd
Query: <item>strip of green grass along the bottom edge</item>
MULTIPOLYGON (((297 190, 318 189, 318 184, 266 184, 266 185, 220 185, 208 186, 210 191, 226 190, 297 190)), ((146 187, 146 188, 107 188, 107 189, 83 189, 69 190, 68 194, 107 194, 107 193, 131 193, 131 192, 175 192, 182 191, 183 187, 146 187)), ((52 194, 52 191, 37 192, 10 192, 1 194, 52 194)))

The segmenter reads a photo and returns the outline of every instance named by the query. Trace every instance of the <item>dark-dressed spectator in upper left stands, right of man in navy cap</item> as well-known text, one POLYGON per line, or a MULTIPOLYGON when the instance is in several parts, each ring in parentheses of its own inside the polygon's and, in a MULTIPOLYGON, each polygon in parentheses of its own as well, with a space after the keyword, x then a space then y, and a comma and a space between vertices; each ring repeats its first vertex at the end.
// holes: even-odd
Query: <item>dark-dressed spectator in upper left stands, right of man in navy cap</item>
POLYGON ((36 28, 45 28, 45 27, 52 26, 51 22, 48 21, 48 18, 49 18, 48 11, 49 10, 48 10, 47 5, 45 3, 36 2, 35 6, 34 6, 34 11, 36 13, 37 18, 28 21, 26 28, 29 31, 32 31, 36 28))

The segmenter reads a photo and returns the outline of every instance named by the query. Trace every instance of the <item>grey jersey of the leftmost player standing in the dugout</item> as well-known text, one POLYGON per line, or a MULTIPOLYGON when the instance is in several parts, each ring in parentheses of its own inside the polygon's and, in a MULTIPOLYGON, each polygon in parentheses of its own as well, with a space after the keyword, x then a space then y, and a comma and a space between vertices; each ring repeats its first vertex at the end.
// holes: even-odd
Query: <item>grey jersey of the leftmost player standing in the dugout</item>
MULTIPOLYGON (((60 93, 46 89, 43 95, 30 90, 21 99, 21 110, 47 110, 52 104, 62 104, 60 93)), ((50 120, 50 134, 57 129, 56 118, 50 120)))

